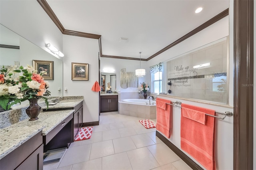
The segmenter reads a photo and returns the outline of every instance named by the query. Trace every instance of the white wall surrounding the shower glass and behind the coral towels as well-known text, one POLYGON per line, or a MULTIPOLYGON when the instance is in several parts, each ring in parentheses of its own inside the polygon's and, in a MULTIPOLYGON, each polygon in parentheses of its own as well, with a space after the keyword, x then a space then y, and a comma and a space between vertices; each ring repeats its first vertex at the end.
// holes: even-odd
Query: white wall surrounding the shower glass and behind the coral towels
MULTIPOLYGON (((230 2, 232 3, 232 2, 230 2)), ((232 4, 231 4, 232 6, 232 4)), ((232 7, 230 7, 232 8, 232 7)), ((233 9, 233 8, 232 8, 233 9)), ((231 9, 231 10, 232 10, 231 9)), ((202 45, 208 44, 220 38, 226 37, 230 35, 230 106, 233 106, 233 34, 229 34, 230 30, 233 30, 233 26, 229 27, 229 24, 232 25, 232 22, 229 23, 229 17, 233 18, 233 12, 230 12, 230 16, 223 18, 222 20, 212 24, 208 28, 198 32, 197 34, 191 36, 190 38, 184 40, 183 42, 175 45, 174 47, 168 49, 164 53, 150 59, 146 64, 149 66, 159 63, 161 61, 165 61, 167 59, 171 59, 180 55, 182 53, 186 53, 192 49, 201 47, 202 45)), ((150 77, 147 77, 149 79, 150 77)), ((169 99, 171 101, 181 101, 182 103, 195 105, 198 107, 205 107, 208 109, 213 109, 218 112, 224 113, 225 111, 232 111, 233 109, 227 107, 220 107, 215 105, 203 104, 193 101, 186 101, 184 99, 174 99, 171 97, 163 97, 158 96, 160 98, 169 99)), ((173 125, 172 125, 172 136, 170 137, 170 142, 172 142, 175 146, 180 148, 180 108, 173 107, 173 125)), ((221 116, 221 115, 220 115, 221 116)), ((188 155, 188 154, 187 154, 188 155)), ((190 155, 188 155, 192 158, 190 155)), ((194 158, 192 158, 194 160, 194 158)), ((197 162, 196 160, 194 160, 197 162)), ((198 162, 197 162, 198 163, 198 162)), ((199 163, 198 163, 199 164, 199 163)), ((203 167, 203 166, 202 166, 203 167)), ((223 169, 223 170, 231 170, 233 169, 233 117, 226 117, 225 120, 216 119, 216 169, 223 169)))

